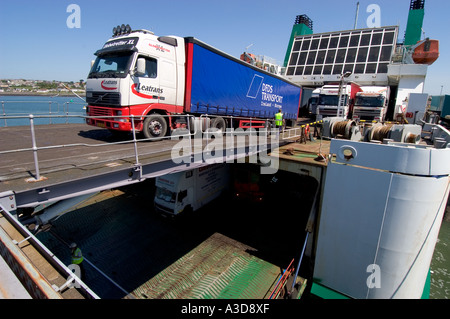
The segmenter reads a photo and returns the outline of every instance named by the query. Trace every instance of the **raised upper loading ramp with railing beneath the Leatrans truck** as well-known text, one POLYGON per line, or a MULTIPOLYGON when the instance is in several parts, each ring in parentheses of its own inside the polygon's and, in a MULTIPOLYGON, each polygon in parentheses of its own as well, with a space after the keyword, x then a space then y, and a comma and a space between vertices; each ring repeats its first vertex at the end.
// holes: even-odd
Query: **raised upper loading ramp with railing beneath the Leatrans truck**
MULTIPOLYGON (((294 141, 298 132, 289 132, 280 145, 294 141)), ((14 192, 17 207, 37 206, 206 165, 205 154, 219 152, 224 155, 219 160, 232 162, 267 154, 273 146, 268 142, 255 149, 247 140, 244 145, 236 142, 232 149, 216 145, 205 152, 211 139, 192 138, 189 153, 177 154, 175 162, 172 151, 178 139, 133 143, 130 138, 117 138, 85 124, 36 126, 34 133, 28 126, 0 128, 0 193, 14 192)))

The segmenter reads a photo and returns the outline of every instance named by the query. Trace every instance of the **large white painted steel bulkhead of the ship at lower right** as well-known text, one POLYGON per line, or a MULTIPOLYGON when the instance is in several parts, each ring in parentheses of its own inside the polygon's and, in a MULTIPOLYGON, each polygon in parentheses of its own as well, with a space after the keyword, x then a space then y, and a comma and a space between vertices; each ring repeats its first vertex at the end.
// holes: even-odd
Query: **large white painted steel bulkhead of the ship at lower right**
POLYGON ((330 153, 337 160, 326 173, 314 281, 352 298, 420 298, 448 199, 450 149, 333 140, 330 153))

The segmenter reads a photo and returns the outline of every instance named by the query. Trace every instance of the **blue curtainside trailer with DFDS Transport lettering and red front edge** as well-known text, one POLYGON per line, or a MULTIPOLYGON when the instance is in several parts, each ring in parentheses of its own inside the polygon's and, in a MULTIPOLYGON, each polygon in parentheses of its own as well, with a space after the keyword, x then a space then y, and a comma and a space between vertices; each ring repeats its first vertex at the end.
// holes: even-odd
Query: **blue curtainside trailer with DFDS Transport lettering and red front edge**
POLYGON ((186 112, 296 120, 301 87, 195 38, 186 43, 186 112))

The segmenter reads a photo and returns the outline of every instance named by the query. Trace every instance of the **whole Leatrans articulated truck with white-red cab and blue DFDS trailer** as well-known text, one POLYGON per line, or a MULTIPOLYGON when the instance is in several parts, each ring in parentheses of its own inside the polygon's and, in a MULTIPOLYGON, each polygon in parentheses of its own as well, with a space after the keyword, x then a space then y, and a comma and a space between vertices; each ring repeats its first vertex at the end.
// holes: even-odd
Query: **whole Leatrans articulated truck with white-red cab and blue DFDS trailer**
POLYGON ((268 128, 301 87, 193 37, 113 29, 86 81, 88 125, 160 139, 178 128, 268 128), (200 120, 201 119, 201 120, 200 120))

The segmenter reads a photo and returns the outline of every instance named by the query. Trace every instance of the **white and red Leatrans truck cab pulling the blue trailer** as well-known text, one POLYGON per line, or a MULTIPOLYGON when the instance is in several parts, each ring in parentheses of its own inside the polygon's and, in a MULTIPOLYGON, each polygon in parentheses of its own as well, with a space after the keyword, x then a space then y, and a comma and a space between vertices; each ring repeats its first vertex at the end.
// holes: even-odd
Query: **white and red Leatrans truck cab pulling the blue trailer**
POLYGON ((184 38, 157 37, 148 30, 118 27, 95 55, 97 58, 86 81, 86 100, 96 107, 87 113, 110 116, 115 121, 97 122, 92 118, 88 124, 131 131, 127 115, 144 116, 149 108, 157 109, 158 105, 164 105, 164 109, 170 105, 173 113, 183 111, 184 38))

